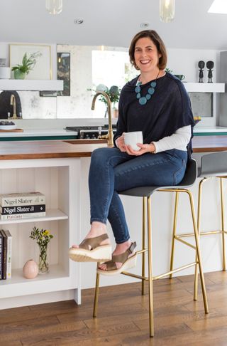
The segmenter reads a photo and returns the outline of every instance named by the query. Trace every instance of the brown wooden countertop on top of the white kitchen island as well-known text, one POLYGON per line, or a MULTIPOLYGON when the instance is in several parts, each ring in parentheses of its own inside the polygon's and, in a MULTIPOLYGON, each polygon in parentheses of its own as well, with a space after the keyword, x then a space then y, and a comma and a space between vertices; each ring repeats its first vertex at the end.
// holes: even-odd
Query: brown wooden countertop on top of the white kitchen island
MULTIPOLYGON (((106 142, 89 140, 44 140, 1 142, 0 160, 4 159, 48 159, 60 157, 90 157, 106 142), (88 143, 88 144, 85 144, 88 143)), ((194 152, 218 152, 227 150, 227 136, 196 136, 193 138, 194 152)))

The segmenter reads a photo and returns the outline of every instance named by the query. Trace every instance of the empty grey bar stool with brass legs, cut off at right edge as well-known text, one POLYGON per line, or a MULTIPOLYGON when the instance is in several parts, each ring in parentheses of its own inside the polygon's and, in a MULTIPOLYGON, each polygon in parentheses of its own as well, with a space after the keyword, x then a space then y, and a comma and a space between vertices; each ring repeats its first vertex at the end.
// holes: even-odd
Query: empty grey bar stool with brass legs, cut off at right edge
MULTIPOLYGON (((224 221, 224 204, 223 204, 223 179, 227 178, 227 152, 212 152, 201 157, 201 167, 198 169, 198 177, 203 178, 199 182, 198 195, 198 211, 197 211, 197 228, 199 236, 208 236, 209 234, 221 234, 222 238, 222 256, 223 256, 223 271, 226 271, 226 246, 225 246, 225 221, 224 221), (211 177, 220 179, 220 197, 221 197, 221 230, 218 231, 200 231, 201 228, 201 192, 204 182, 207 182, 211 177)), ((193 236, 193 234, 178 234, 175 235, 172 241, 185 236, 193 236)), ((173 261, 174 253, 172 251, 171 258, 173 261)), ((172 263, 170 263, 170 270, 172 263)), ((198 290, 198 266, 195 268, 194 295, 197 298, 198 290)))

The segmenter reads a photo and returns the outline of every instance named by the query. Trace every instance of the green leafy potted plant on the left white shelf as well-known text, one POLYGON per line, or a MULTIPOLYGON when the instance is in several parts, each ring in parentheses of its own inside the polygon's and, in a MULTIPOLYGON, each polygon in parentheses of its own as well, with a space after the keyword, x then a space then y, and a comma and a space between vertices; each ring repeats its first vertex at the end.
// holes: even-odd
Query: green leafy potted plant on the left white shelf
POLYGON ((24 53, 24 56, 22 58, 22 64, 13 66, 12 71, 14 72, 14 78, 15 79, 24 79, 28 73, 33 70, 36 59, 42 56, 42 53, 35 52, 32 53, 30 56, 27 55, 27 53, 24 53))

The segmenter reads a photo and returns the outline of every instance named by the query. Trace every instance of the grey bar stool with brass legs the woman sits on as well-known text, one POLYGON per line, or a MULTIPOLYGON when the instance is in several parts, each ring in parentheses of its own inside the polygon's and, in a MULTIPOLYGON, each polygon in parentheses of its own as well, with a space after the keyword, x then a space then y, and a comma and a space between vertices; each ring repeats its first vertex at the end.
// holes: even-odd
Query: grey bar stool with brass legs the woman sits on
MULTIPOLYGON (((149 283, 149 323, 150 323, 150 337, 154 336, 154 319, 153 319, 153 280, 157 280, 159 278, 164 278, 165 276, 172 275, 172 273, 177 273, 178 271, 182 271, 183 269, 187 269, 192 266, 199 265, 199 273, 201 278, 201 289, 204 299, 204 310, 205 313, 209 313, 208 310, 208 304, 207 304, 207 298, 206 298, 206 288, 204 283, 204 274, 202 271, 201 266, 201 254, 199 249, 199 237, 198 237, 198 231, 196 226, 196 218, 194 213, 194 201, 192 193, 187 189, 188 187, 192 186, 196 180, 197 175, 197 167, 196 167, 196 161, 194 159, 189 160, 187 164, 187 169, 184 174, 184 179, 182 182, 174 187, 136 187, 134 189, 128 189, 126 191, 120 192, 120 194, 127 195, 127 196, 140 196, 143 197, 143 227, 142 227, 142 249, 140 251, 136 251, 136 253, 142 254, 142 275, 138 276, 133 273, 128 272, 122 272, 121 274, 126 276, 132 276, 133 278, 139 278, 142 281, 142 295, 145 294, 145 281, 148 281, 149 283), (194 227, 194 238, 196 245, 193 246, 191 243, 187 243, 187 241, 180 240, 185 245, 194 248, 196 251, 196 261, 193 263, 189 263, 185 266, 172 269, 168 273, 161 274, 159 276, 153 276, 153 269, 152 269, 152 235, 151 235, 151 213, 150 213, 150 199, 151 195, 154 192, 175 192, 175 213, 174 213, 174 222, 173 222, 173 233, 176 231, 176 225, 177 225, 177 205, 178 205, 178 199, 179 199, 179 193, 184 192, 189 196, 189 202, 191 206, 191 213, 192 213, 192 221, 193 221, 193 227, 194 227), (148 248, 145 247, 145 210, 147 211, 147 231, 148 231, 148 248), (145 277, 145 252, 148 252, 148 277, 145 277)), ((172 253, 174 251, 174 242, 172 242, 172 253)), ((172 256, 173 259, 173 256, 172 256)), ((98 263, 99 266, 99 263, 98 263)), ((94 295, 94 311, 93 311, 93 317, 95 318, 97 315, 97 307, 98 307, 98 295, 99 295, 99 273, 96 273, 96 288, 95 288, 95 295, 94 295)))

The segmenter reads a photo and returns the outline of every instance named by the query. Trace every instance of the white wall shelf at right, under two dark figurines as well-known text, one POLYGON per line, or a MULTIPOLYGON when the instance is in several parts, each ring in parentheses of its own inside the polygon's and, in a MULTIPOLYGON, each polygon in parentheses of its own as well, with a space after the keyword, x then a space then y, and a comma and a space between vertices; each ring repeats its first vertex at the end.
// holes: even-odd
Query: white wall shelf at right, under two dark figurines
POLYGON ((225 83, 184 83, 188 93, 225 93, 225 83))

